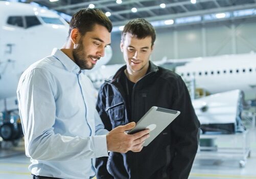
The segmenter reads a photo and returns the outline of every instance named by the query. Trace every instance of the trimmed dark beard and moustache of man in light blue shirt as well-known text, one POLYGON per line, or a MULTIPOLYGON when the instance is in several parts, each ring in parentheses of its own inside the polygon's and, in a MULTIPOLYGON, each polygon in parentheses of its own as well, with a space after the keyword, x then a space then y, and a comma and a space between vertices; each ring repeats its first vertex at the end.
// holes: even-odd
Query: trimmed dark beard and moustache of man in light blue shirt
POLYGON ((80 40, 78 43, 78 47, 76 49, 73 49, 73 57, 75 60, 75 63, 80 67, 80 69, 92 69, 95 64, 91 63, 90 60, 91 58, 94 59, 100 59, 100 57, 95 57, 88 55, 84 52, 84 44, 83 41, 80 40))

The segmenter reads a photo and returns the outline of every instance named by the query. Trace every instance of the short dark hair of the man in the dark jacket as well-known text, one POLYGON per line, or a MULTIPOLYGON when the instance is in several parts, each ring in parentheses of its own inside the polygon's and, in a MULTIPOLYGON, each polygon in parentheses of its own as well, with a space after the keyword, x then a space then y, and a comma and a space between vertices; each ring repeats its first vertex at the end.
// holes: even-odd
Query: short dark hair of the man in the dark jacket
POLYGON ((148 36, 151 36, 151 46, 154 45, 155 42, 155 29, 153 28, 152 24, 149 23, 147 20, 142 18, 136 18, 130 20, 124 27, 122 32, 121 40, 124 41, 125 35, 127 33, 131 33, 132 35, 136 36, 138 39, 144 39, 148 36))

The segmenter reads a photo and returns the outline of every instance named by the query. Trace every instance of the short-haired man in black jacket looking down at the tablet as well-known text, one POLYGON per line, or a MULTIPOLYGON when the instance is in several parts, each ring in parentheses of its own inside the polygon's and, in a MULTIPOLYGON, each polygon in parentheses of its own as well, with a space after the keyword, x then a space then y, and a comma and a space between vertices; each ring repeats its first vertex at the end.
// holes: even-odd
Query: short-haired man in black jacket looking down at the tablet
POLYGON ((125 25, 121 51, 126 65, 102 85, 97 110, 107 130, 137 122, 152 106, 181 114, 141 152, 110 152, 109 157, 98 158, 97 179, 189 177, 200 123, 180 76, 149 60, 154 41, 155 30, 145 19, 134 19, 125 25))

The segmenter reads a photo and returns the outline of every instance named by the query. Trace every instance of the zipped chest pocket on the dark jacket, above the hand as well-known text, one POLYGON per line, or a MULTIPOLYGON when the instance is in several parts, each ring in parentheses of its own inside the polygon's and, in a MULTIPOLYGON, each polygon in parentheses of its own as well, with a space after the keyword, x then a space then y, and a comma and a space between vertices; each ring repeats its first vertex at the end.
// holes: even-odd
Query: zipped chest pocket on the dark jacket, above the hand
POLYGON ((108 116, 111 120, 112 127, 124 125, 125 123, 125 106, 124 102, 115 104, 109 107, 107 110, 108 116))

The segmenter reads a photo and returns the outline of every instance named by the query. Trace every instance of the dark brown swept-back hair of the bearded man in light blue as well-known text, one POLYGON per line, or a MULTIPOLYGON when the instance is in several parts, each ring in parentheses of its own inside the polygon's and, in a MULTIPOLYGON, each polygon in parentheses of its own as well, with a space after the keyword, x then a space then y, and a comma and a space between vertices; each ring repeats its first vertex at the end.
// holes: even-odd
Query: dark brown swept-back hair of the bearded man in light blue
POLYGON ((108 32, 112 31, 111 21, 100 9, 81 9, 73 15, 69 23, 68 37, 73 29, 78 29, 84 35, 86 32, 91 31, 95 24, 104 26, 108 32))

